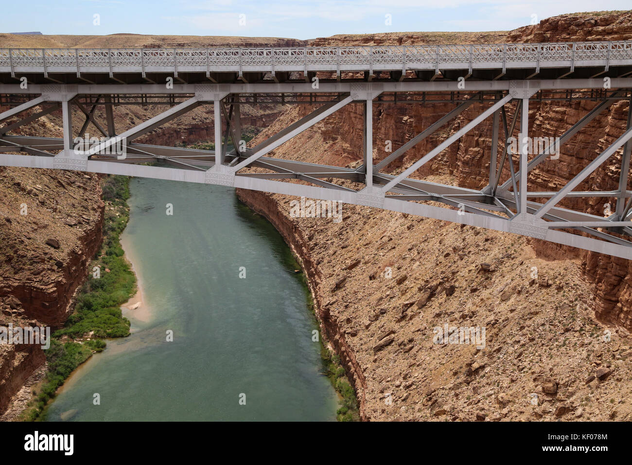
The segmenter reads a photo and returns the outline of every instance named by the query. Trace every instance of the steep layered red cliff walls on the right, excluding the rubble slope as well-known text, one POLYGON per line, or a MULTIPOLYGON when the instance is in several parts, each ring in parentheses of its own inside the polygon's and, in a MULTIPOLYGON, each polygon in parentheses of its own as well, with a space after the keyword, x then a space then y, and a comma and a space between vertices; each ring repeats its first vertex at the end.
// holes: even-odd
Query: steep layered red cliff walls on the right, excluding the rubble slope
MULTIPOLYGON (((481 33, 485 34, 485 33, 481 33)), ((490 33, 491 34, 491 33, 490 33)), ((494 33, 496 34, 496 33, 494 33)), ((421 34, 420 34, 421 36, 421 34)), ((419 43, 414 39, 416 34, 402 35, 382 34, 375 36, 333 36, 315 39, 313 44, 334 46, 341 44, 384 44, 397 45, 419 43)), ((489 37, 494 37, 493 35, 489 37)), ((463 37, 468 39, 469 37, 463 37)), ((494 37, 495 38, 495 37, 494 37)), ((476 37, 485 42, 485 36, 476 37)), ((497 38, 496 38, 497 39, 497 38)), ((509 32, 499 41, 537 42, 537 41, 574 41, 574 40, 629 40, 632 39, 632 12, 623 13, 586 13, 563 15, 542 20, 538 25, 518 28, 509 32)), ((436 39, 435 40, 441 40, 436 39)), ((467 43, 466 40, 463 40, 467 43)), ((537 77, 536 77, 537 78, 537 77)), ((387 141, 391 141, 393 150, 422 132, 428 125, 441 118, 454 108, 449 103, 425 104, 381 104, 374 102, 374 159, 386 158, 387 141)), ((529 130, 533 137, 558 137, 597 102, 591 101, 551 101, 530 104, 529 130)), ((533 190, 552 190, 562 187, 570 178, 604 151, 619 137, 626 127, 628 118, 628 102, 620 101, 603 111, 580 133, 575 135, 562 147, 561 156, 557 160, 544 161, 530 173, 529 185, 533 190)), ((442 130, 427 137, 406 154, 392 162, 385 171, 396 173, 410 166, 442 140, 465 126, 471 119, 480 114, 487 106, 473 104, 442 130)), ((289 121, 300 118, 312 110, 308 106, 288 110, 289 121)), ((513 109, 507 111, 511 121, 513 109)), ((360 104, 350 104, 334 113, 319 127, 326 145, 320 150, 308 144, 309 149, 320 152, 318 157, 322 163, 338 166, 357 166, 362 158, 363 108, 360 104), (344 131, 340 128, 345 127, 344 131), (354 164, 355 163, 355 164, 354 164)), ((279 119, 283 121, 283 118, 279 119)), ((516 127, 514 135, 518 136, 516 127)), ((482 188, 487 185, 489 177, 489 157, 491 119, 488 118, 473 131, 468 132, 446 151, 439 154, 432 162, 418 170, 413 177, 442 178, 442 182, 456 183, 463 187, 482 188)), ((502 152, 499 152, 499 159, 502 152)), ((282 155, 281 155, 282 156, 282 155)), ((514 163, 518 164, 518 158, 514 163)), ((618 171, 621 163, 621 150, 607 163, 600 166, 588 177, 578 189, 582 190, 616 190, 618 189, 618 171)), ((504 165, 501 179, 509 178, 508 163, 504 165)), ((432 179, 431 179, 432 180, 432 179)), ((628 186, 628 189, 631 185, 628 186)), ((560 206, 584 209, 587 213, 603 214, 605 204, 614 210, 614 198, 574 198, 564 199, 560 206)), ((533 247, 542 256, 547 257, 580 257, 582 269, 593 282, 597 299, 595 315, 601 321, 611 325, 623 326, 632 330, 632 264, 625 259, 597 254, 595 252, 578 251, 571 247, 562 247, 548 242, 534 241, 533 247)))

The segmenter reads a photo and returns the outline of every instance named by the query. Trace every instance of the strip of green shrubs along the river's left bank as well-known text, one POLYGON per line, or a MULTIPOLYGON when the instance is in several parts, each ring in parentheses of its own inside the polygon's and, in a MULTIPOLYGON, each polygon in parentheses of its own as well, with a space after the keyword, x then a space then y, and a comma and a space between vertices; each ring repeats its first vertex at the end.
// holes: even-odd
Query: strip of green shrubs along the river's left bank
MULTIPOLYGON (((126 177, 104 179, 102 191, 106 210, 100 252, 88 267, 90 273, 76 295, 73 313, 63 328, 52 334, 51 347, 46 350, 46 375, 33 385, 33 395, 16 417, 18 420, 46 418, 48 404, 66 379, 93 354, 106 348, 104 339, 130 334, 130 321, 119 308, 136 290, 135 275, 119 242, 129 221, 126 203, 130 197, 129 182, 126 177)), ((24 400, 24 395, 18 395, 18 406, 24 400)), ((13 406, 13 411, 15 408, 13 406)))

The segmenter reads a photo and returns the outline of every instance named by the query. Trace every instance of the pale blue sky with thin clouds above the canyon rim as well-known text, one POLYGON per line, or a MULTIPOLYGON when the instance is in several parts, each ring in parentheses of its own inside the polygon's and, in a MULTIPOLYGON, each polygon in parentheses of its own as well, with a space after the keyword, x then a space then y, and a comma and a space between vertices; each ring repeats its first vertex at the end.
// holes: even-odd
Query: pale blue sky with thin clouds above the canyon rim
POLYGON ((0 32, 312 39, 375 32, 509 30, 562 13, 630 5, 630 0, 35 0, 4 2, 0 32), (94 24, 95 15, 99 25, 94 24))

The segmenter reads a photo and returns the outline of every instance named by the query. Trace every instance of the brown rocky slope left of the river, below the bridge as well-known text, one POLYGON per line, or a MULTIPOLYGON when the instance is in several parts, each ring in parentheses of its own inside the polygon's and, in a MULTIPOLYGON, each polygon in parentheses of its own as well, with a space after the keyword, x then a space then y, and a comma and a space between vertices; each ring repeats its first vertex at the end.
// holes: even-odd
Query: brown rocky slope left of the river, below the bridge
MULTIPOLYGON (((61 326, 100 245, 98 178, 2 167, 0 198, 0 326, 61 326)), ((44 361, 40 345, 0 345, 0 412, 44 361)))

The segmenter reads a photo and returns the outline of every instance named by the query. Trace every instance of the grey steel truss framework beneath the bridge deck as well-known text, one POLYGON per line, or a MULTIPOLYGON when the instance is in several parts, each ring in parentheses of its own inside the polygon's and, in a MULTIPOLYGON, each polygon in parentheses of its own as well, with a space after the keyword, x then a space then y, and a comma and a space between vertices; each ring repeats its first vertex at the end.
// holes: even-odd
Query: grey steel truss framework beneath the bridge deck
MULTIPOLYGON (((630 223, 632 191, 627 190, 632 152, 632 109, 628 112, 628 124, 623 134, 588 163, 580 173, 568 180, 561 189, 539 192, 530 191, 526 187, 530 171, 550 155, 549 152, 543 152, 529 159, 528 142, 523 135, 528 134, 530 99, 536 95, 542 96, 544 91, 559 92, 572 89, 587 89, 592 93, 591 95, 602 97, 595 108, 561 135, 559 138, 559 146, 561 146, 614 102, 631 98, 632 78, 612 78, 612 90, 609 92, 599 90, 603 88, 603 84, 601 79, 470 82, 468 83, 470 93, 462 98, 453 99, 455 104, 453 110, 378 163, 375 163, 373 159, 372 115, 374 104, 384 102, 380 101, 380 97, 384 97, 384 94, 388 92, 407 94, 445 92, 448 96, 446 98, 449 99, 449 95, 459 92, 458 83, 337 83, 322 84, 320 89, 312 89, 308 83, 180 84, 174 85, 173 89, 150 84, 32 85, 28 90, 20 89, 19 85, 0 84, 0 95, 40 94, 39 97, 0 113, 0 165, 80 170, 208 183, 341 201, 516 233, 630 259, 632 258, 632 242, 626 239, 626 236, 632 235, 632 223, 630 223), (313 99, 312 103, 317 108, 307 116, 257 146, 247 147, 241 140, 240 105, 246 103, 245 95, 270 93, 292 94, 296 101, 301 99, 309 101, 310 94, 327 96, 327 98, 313 99), (113 104, 121 101, 122 97, 143 94, 178 96, 181 101, 160 115, 117 134, 112 116, 113 104), (483 94, 485 98, 482 97, 483 94), (186 98, 182 99, 183 96, 186 98), (284 142, 308 130, 351 102, 362 103, 365 108, 363 164, 360 167, 344 168, 268 156, 284 142), (459 128, 401 173, 393 175, 384 172, 392 161, 403 156, 406 151, 437 132, 475 103, 483 109, 469 123, 459 128), (160 127, 167 121, 206 104, 212 104, 214 108, 215 151, 134 142, 141 135, 160 127), (506 114, 507 106, 513 105, 515 105, 515 111, 509 122, 506 114), (78 132, 73 130, 72 106, 79 108, 85 116, 78 132), (100 106, 106 110, 106 127, 102 127, 95 120, 95 110, 100 106), (15 122, 5 123, 23 111, 35 107, 39 108, 36 113, 15 122), (62 138, 10 134, 16 128, 27 125, 59 108, 63 116, 62 138), (487 118, 492 118, 487 186, 483 189, 467 189, 410 177, 487 118), (225 122, 223 132, 222 120, 225 122), (104 137, 104 142, 75 150, 76 147, 73 144, 75 133, 82 136, 90 125, 104 137), (518 137, 520 149, 514 154, 510 149, 509 137, 513 136, 516 127, 520 133, 518 137), (107 152, 107 149, 121 143, 125 144, 126 158, 107 152), (618 189, 574 190, 620 149, 623 149, 623 154, 618 189), (518 157, 517 166, 514 166, 514 156, 518 157), (506 164, 511 175, 502 180, 506 164), (252 168, 264 168, 265 172, 252 170, 252 168), (301 180, 309 185, 283 182, 283 180, 301 180), (338 180, 337 183, 336 180, 338 180), (346 182, 341 183, 340 180, 346 182), (359 185, 361 189, 349 187, 354 185, 359 185), (563 199, 571 197, 614 198, 616 207, 611 216, 604 218, 558 206, 563 199), (536 202, 535 200, 538 199, 544 199, 544 201, 536 202), (438 206, 441 204, 443 206, 438 206)), ((252 101, 248 103, 252 104, 252 101)), ((423 104, 423 101, 416 101, 416 104, 423 104)), ((556 151, 559 146, 553 147, 550 151, 556 151)))

